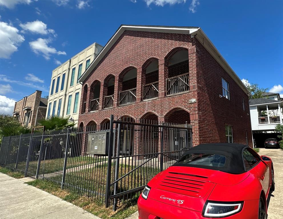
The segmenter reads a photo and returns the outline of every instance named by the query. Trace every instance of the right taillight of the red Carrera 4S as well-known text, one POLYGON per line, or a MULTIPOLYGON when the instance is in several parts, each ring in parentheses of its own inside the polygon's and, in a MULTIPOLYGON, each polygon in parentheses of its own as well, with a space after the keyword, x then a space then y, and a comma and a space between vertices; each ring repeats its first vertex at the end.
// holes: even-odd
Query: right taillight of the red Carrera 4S
POLYGON ((203 216, 213 218, 223 218, 236 214, 242 210, 243 202, 207 202, 204 206, 203 216))

